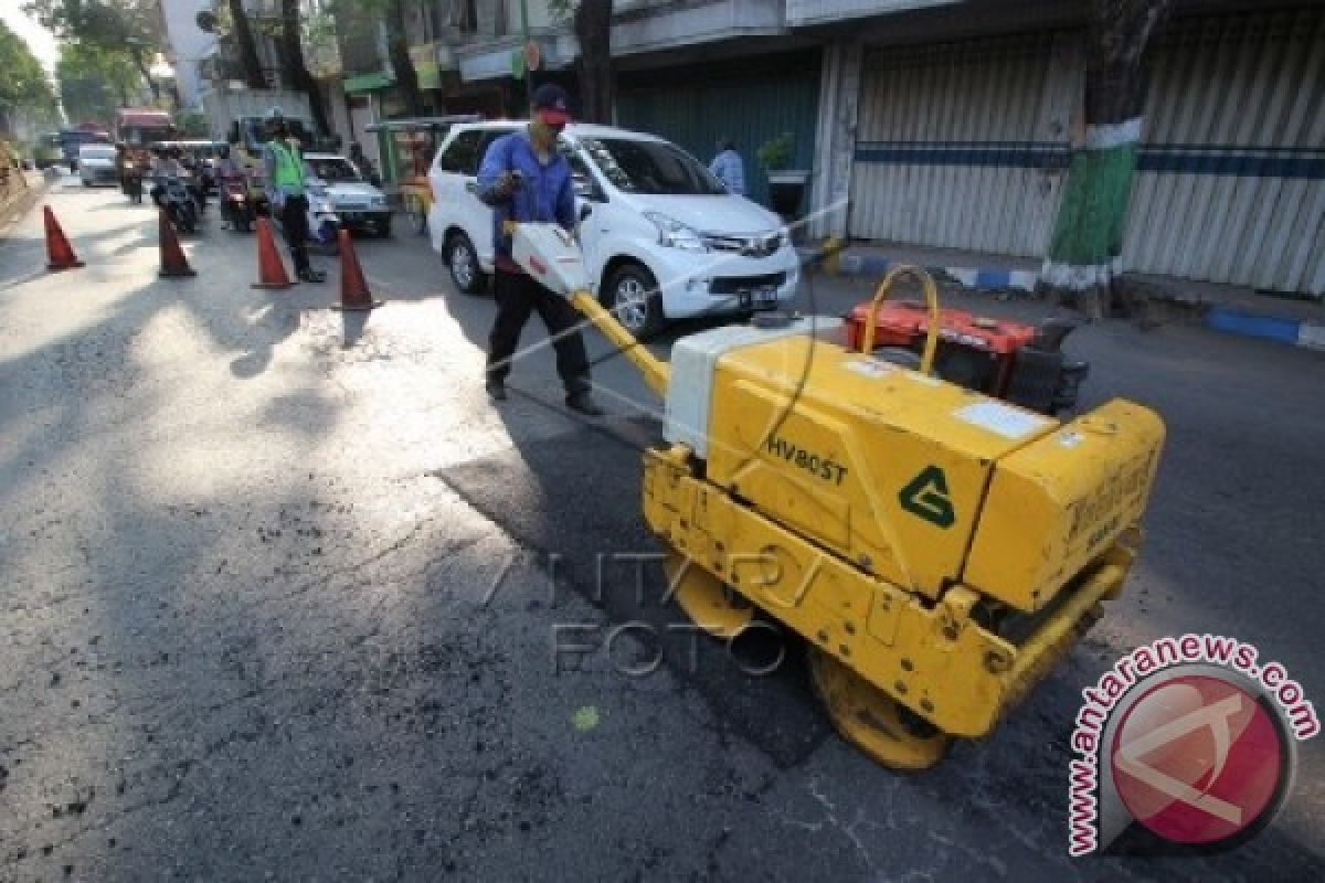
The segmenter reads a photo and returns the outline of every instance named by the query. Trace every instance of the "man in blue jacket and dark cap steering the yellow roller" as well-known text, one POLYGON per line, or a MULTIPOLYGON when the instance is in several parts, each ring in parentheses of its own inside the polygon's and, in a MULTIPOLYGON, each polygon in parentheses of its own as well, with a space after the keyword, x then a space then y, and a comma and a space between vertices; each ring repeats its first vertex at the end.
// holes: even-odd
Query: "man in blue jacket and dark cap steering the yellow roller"
POLYGON ((556 373, 566 387, 566 406, 590 417, 603 409, 590 389, 588 353, 578 331, 580 316, 566 298, 525 273, 511 258, 507 220, 556 222, 575 228, 575 191, 570 163, 556 150, 556 138, 570 122, 566 91, 545 83, 534 93, 529 127, 498 138, 478 168, 478 197, 493 208, 493 295, 497 319, 489 335, 488 395, 506 398, 506 376, 530 312, 547 326, 556 349, 556 373))

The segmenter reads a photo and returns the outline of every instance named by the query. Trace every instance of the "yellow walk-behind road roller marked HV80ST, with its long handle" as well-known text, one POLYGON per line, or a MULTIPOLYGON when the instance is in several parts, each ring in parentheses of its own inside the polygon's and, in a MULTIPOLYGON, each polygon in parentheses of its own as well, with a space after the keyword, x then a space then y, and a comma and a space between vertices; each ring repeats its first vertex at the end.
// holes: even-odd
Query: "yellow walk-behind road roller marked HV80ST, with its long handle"
POLYGON ((513 241, 665 402, 643 508, 677 601, 718 635, 758 613, 800 634, 835 727, 878 763, 924 769, 988 733, 1120 593, 1162 421, 1113 400, 1063 422, 934 376, 922 271, 876 298, 920 278, 918 367, 820 316, 702 331, 662 363, 599 306, 570 234, 513 241))

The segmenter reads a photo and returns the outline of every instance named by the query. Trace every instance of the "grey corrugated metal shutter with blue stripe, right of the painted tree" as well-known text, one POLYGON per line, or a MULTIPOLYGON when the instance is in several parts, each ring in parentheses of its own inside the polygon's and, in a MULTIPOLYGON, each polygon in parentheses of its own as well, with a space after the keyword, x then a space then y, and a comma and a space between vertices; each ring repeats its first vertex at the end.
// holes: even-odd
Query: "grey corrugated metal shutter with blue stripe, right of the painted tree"
POLYGON ((1179 23, 1155 53, 1124 266, 1325 294, 1325 15, 1179 23))

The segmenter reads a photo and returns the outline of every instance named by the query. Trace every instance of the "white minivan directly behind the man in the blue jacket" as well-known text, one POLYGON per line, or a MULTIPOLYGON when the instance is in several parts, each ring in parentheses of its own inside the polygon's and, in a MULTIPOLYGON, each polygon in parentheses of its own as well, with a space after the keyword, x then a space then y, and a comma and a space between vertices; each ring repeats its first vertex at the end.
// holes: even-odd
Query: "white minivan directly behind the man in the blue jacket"
MULTIPOLYGON (((453 126, 428 175, 432 248, 461 291, 486 290, 492 209, 477 196, 488 147, 525 123, 453 126)), ((782 220, 735 196, 680 147, 641 132, 571 123, 560 148, 575 176, 580 245, 595 294, 635 334, 668 319, 772 310, 800 263, 782 220)))

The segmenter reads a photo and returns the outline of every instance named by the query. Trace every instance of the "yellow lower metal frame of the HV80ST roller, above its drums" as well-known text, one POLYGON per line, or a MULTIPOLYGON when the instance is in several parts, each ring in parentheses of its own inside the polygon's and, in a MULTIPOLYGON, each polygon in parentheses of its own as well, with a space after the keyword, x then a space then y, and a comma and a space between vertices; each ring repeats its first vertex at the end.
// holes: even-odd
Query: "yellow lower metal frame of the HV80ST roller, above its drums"
POLYGON ((987 735, 1061 662, 1121 590, 1140 541, 1128 531, 1016 645, 977 622, 971 588, 930 605, 871 576, 697 479, 684 446, 647 451, 644 467, 644 516, 659 536, 947 736, 987 735))

